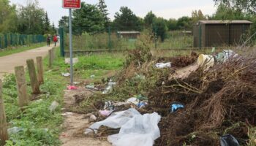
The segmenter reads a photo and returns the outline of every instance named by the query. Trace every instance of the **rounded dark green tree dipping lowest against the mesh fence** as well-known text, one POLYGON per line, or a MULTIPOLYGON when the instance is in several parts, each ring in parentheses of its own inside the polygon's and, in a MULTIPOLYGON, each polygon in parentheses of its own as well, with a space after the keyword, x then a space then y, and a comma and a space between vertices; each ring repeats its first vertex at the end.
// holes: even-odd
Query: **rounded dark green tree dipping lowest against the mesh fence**
POLYGON ((166 38, 167 30, 168 28, 167 28, 166 20, 164 18, 156 18, 154 20, 154 24, 153 24, 154 34, 156 34, 157 37, 160 37, 162 42, 166 38))

